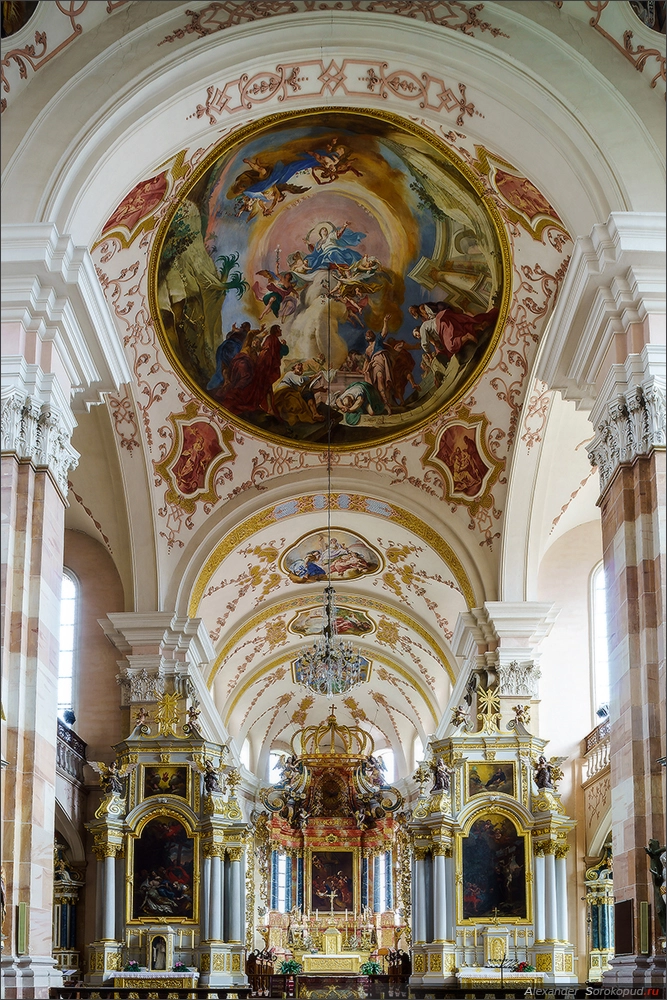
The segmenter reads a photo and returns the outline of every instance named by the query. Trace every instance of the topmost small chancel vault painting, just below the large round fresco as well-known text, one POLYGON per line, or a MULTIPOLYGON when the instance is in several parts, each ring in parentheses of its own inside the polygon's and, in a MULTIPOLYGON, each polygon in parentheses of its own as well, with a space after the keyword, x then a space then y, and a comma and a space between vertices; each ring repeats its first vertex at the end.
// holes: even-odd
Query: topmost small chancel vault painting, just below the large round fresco
POLYGON ((376 573, 382 557, 360 535, 332 527, 312 531, 287 549, 281 560, 283 572, 293 583, 316 580, 354 580, 376 573))

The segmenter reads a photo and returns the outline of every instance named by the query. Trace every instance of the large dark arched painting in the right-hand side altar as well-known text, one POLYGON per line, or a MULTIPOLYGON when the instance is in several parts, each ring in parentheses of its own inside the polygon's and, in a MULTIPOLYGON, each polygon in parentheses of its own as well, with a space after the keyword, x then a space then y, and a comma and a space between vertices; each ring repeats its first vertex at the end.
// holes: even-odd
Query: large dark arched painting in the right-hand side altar
POLYGON ((463 846, 463 919, 527 918, 525 840, 510 819, 489 812, 463 846))

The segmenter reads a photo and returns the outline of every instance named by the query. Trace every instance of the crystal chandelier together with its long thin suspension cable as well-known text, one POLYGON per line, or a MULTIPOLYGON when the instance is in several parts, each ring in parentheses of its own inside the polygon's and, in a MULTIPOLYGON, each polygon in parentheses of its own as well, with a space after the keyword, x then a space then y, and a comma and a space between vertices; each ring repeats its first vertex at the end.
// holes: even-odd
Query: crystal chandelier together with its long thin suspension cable
MULTIPOLYGON (((331 272, 329 272, 327 323, 327 365, 331 363, 331 272)), ((327 371, 327 536, 331 552, 331 378, 327 371)), ((294 661, 294 675, 313 694, 334 698, 346 694, 368 677, 368 660, 351 642, 338 635, 336 591, 331 586, 331 564, 328 585, 322 597, 322 628, 314 644, 294 661)))

